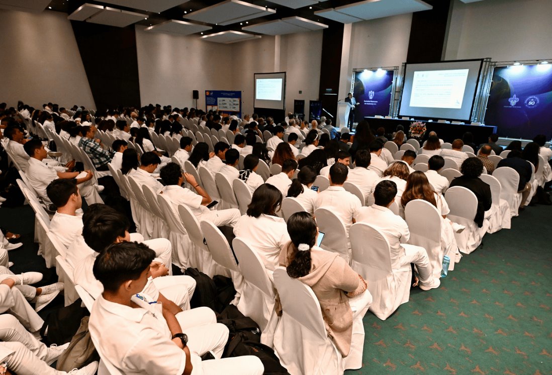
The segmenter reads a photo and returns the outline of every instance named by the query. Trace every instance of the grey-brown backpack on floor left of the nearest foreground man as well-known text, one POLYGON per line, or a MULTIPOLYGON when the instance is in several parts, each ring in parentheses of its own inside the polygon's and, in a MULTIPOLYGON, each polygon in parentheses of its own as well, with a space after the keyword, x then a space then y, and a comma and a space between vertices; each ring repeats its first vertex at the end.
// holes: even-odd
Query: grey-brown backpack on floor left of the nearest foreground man
POLYGON ((57 358, 56 369, 58 371, 69 372, 73 368, 81 368, 93 361, 99 361, 100 356, 96 351, 88 330, 88 319, 84 317, 81 320, 77 333, 71 339, 71 344, 62 355, 57 358))

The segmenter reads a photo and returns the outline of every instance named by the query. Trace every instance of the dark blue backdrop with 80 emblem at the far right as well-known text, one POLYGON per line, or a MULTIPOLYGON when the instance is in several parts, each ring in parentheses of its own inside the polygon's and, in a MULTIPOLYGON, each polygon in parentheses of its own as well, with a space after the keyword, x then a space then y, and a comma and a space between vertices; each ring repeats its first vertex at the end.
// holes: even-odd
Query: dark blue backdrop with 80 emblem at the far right
POLYGON ((495 68, 485 125, 497 126, 501 137, 552 138, 552 66, 495 68))

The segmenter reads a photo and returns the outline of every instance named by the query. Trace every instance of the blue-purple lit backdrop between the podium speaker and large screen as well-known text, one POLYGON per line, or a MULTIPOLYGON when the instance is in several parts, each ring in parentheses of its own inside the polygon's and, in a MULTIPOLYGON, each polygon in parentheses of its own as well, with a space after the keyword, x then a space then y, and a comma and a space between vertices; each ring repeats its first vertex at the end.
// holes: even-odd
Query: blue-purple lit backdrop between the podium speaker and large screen
POLYGON ((356 121, 365 116, 389 115, 394 71, 377 70, 354 73, 353 97, 360 103, 356 121))

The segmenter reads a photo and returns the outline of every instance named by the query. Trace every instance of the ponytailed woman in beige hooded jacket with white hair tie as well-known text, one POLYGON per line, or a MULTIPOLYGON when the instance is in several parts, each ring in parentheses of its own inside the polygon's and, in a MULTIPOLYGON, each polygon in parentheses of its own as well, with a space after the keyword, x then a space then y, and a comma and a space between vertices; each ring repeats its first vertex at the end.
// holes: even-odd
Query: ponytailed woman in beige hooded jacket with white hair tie
POLYGON ((312 288, 328 335, 341 355, 351 355, 360 367, 364 345, 362 318, 372 302, 367 282, 337 253, 316 246, 318 228, 309 213, 294 213, 287 227, 291 242, 280 253, 280 266, 286 267, 290 277, 312 288))

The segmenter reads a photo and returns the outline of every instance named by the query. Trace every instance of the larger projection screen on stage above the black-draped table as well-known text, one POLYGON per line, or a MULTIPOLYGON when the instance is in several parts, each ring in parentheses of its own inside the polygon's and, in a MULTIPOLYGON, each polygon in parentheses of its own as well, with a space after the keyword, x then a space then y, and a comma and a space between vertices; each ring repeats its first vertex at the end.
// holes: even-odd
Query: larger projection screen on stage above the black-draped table
POLYGON ((482 63, 406 64, 399 116, 469 121, 482 63))

